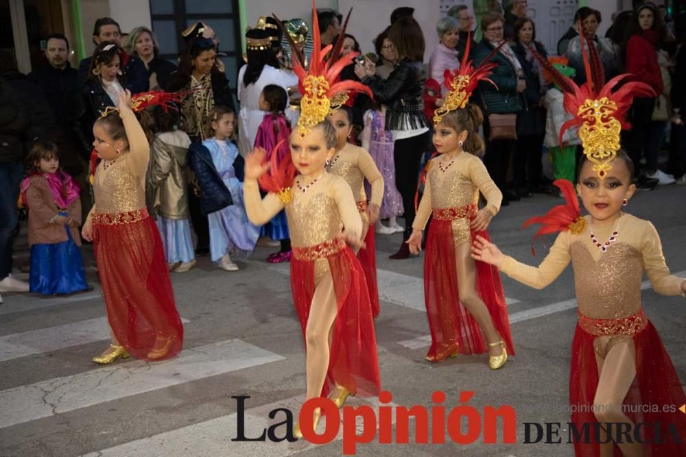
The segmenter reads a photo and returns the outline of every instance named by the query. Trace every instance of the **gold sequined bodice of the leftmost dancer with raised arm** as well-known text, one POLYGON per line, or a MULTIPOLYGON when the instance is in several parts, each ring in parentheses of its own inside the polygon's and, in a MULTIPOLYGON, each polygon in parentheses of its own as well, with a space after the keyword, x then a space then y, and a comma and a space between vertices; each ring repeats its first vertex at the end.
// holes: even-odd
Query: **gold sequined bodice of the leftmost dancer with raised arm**
POLYGON ((95 171, 93 195, 99 213, 128 212, 145 208, 145 188, 143 177, 138 177, 128 169, 121 158, 106 169, 105 161, 95 171))

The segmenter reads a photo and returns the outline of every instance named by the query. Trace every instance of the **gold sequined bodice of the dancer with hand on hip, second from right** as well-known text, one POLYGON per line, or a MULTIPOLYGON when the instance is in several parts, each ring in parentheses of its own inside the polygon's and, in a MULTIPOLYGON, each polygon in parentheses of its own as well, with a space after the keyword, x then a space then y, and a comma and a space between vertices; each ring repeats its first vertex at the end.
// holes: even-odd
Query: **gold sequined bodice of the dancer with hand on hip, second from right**
POLYGON ((431 207, 434 209, 458 208, 460 206, 478 203, 479 189, 460 171, 460 158, 456 158, 447 169, 445 166, 450 161, 442 162, 433 160, 431 169, 427 173, 427 180, 431 182, 431 207))

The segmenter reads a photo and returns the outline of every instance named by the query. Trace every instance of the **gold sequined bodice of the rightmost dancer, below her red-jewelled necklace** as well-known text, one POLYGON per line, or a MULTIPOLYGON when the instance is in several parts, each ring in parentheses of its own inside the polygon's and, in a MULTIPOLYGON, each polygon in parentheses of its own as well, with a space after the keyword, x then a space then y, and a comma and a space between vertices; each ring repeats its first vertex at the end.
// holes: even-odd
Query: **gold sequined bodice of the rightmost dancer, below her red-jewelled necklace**
POLYGON ((579 311, 595 319, 618 319, 641 309, 641 253, 628 243, 615 242, 598 260, 591 243, 571 243, 571 262, 579 311))

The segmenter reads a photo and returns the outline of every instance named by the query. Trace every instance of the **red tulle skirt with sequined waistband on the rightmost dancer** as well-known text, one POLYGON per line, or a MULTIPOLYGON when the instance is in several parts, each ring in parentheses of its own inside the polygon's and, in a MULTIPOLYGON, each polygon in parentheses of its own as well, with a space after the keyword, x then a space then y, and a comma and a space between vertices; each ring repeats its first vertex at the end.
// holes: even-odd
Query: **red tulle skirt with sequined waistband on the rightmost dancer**
MULTIPOLYGON (((681 382, 676 375, 670 356, 667 355, 657 330, 645 317, 643 311, 624 319, 589 319, 580 315, 571 348, 571 370, 569 373, 569 403, 573 412, 571 421, 577 430, 589 424, 590 443, 575 443, 576 456, 598 457, 600 445, 595 441, 592 430, 598 420, 593 413, 593 398, 598 388, 598 365, 595 362, 593 341, 603 334, 616 334, 617 328, 633 328, 636 349, 636 378, 624 398, 623 408, 633 423, 644 423, 641 430, 643 452, 646 456, 686 456, 686 415, 678 408, 686 403, 681 382), (640 327, 636 325, 639 323, 640 327), (615 325, 611 325, 615 324, 615 325), (617 325, 618 324, 618 325, 617 325), (613 332, 604 329, 613 327, 613 332), (675 430, 678 438, 667 430, 675 430), (659 429, 660 439, 654 434, 659 429), (667 443, 648 443, 667 441, 667 443)), ((616 430, 616 426, 615 429, 616 430)), ((585 441, 585 440, 582 440, 585 441)), ((615 445, 615 456, 621 457, 615 445)))

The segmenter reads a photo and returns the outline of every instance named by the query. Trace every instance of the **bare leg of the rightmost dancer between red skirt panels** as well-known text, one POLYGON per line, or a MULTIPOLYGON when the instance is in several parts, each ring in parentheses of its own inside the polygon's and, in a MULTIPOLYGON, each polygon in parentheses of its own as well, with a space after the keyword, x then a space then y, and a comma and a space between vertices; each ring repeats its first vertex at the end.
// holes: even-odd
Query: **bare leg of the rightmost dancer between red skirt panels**
MULTIPOLYGON (((602 338, 602 337, 601 337, 602 338)), ((595 419, 601 425, 601 441, 606 441, 606 433, 602 428, 604 423, 628 423, 630 424, 630 436, 633 436, 634 423, 622 411, 622 402, 628 393, 631 384, 636 377, 636 349, 633 338, 627 336, 618 341, 608 351, 605 358, 595 354, 595 362, 598 365, 598 389, 593 399, 593 411, 595 419)), ((616 432, 616 430, 613 430, 616 432)), ((642 457, 643 445, 641 443, 617 444, 624 457, 642 457)), ((601 457, 614 456, 614 443, 600 445, 601 457)))

